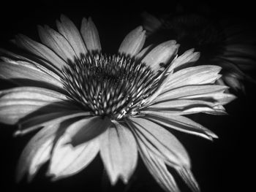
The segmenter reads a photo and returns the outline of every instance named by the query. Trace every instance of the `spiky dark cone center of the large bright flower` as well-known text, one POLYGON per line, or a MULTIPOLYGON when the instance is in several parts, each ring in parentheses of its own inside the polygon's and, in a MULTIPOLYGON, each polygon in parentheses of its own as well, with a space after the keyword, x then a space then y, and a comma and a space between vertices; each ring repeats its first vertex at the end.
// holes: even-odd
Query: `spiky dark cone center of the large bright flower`
POLYGON ((127 55, 90 53, 63 71, 70 98, 95 115, 121 119, 134 115, 156 88, 154 72, 127 55))

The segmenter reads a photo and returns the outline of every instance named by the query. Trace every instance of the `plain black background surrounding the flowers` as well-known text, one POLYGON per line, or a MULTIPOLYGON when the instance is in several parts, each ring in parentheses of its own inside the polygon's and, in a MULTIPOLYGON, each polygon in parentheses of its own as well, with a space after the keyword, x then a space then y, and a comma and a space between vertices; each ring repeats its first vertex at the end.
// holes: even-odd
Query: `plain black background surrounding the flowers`
MULTIPOLYGON (((185 1, 186 2, 186 1, 185 1)), ((187 1, 193 6, 195 1, 187 1)), ((115 53, 125 35, 136 26, 141 25, 140 13, 143 11, 160 15, 173 9, 176 1, 34 1, 10 2, 1 6, 0 12, 0 47, 9 47, 9 39, 15 34, 26 34, 37 39, 37 25, 48 24, 55 27, 55 20, 61 13, 71 18, 77 26, 83 17, 91 16, 99 30, 103 50, 115 53)), ((254 6, 249 1, 209 1, 214 18, 244 18, 252 20, 254 6)), ((255 75, 252 73, 252 75, 255 75)), ((13 85, 0 81, 1 89, 13 85)), ((249 191, 255 177, 255 85, 245 82, 246 94, 237 93, 238 99, 227 104, 229 115, 199 115, 197 122, 214 131, 219 139, 214 142, 188 134, 175 133, 187 148, 192 159, 192 171, 203 192, 249 191)), ((56 183, 50 183, 44 177, 46 167, 27 184, 23 181, 15 184, 15 165, 21 150, 31 135, 13 138, 14 126, 0 124, 1 169, 0 191, 100 191, 102 186, 102 162, 96 158, 83 172, 56 183)), ((178 175, 174 174, 181 191, 189 191, 178 175)), ((129 191, 162 191, 154 182, 145 167, 139 161, 135 173, 135 182, 129 191)), ((104 184, 105 191, 124 191, 118 183, 110 188, 104 184)), ((251 191, 251 190, 250 190, 251 191)))

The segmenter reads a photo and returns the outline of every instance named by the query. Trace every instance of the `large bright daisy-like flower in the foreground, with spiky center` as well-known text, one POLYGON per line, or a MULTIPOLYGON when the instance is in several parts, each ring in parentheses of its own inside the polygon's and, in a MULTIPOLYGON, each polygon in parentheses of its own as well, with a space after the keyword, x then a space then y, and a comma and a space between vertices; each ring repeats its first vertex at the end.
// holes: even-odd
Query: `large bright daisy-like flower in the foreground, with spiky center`
POLYGON ((99 153, 110 183, 127 183, 139 154, 165 191, 178 191, 167 166, 199 191, 189 155, 171 130, 217 138, 184 115, 225 113, 222 105, 234 96, 214 85, 221 68, 187 67, 199 53, 178 56, 174 40, 142 50, 141 26, 116 55, 102 53, 91 18, 83 18, 78 31, 62 15, 57 28, 39 26, 42 44, 18 35, 15 43, 26 56, 1 50, 0 77, 23 85, 0 92, 1 122, 18 124, 16 135, 41 128, 20 156, 17 180, 25 174, 31 180, 47 161, 52 180, 69 177, 99 153))

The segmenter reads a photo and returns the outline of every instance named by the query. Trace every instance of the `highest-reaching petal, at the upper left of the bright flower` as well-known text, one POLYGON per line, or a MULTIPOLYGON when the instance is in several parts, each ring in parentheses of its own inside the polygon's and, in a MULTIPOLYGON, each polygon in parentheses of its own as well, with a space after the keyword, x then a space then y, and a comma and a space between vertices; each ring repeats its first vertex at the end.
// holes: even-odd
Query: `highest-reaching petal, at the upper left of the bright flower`
POLYGON ((59 32, 69 41, 70 45, 72 45, 76 55, 86 55, 86 46, 84 45, 80 32, 69 18, 61 15, 61 23, 57 21, 57 27, 59 32))

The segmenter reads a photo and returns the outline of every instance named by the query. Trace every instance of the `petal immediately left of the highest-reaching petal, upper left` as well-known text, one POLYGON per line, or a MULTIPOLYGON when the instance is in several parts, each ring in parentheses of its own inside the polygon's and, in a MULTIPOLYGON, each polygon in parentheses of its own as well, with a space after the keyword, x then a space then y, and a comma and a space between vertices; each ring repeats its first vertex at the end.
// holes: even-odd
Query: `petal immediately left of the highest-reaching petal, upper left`
POLYGON ((49 26, 38 26, 39 37, 45 45, 50 47, 50 49, 54 50, 64 61, 73 61, 75 56, 74 50, 71 45, 67 41, 67 39, 59 34, 57 31, 53 30, 49 26))

